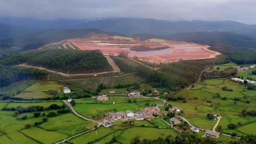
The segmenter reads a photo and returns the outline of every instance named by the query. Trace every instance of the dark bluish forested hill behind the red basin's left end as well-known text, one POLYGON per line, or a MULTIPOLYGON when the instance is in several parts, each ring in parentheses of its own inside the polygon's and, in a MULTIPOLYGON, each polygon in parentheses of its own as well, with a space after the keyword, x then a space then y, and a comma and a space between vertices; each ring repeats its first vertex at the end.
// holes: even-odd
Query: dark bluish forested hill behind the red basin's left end
POLYGON ((119 33, 110 33, 98 29, 51 29, 41 30, 22 36, 0 41, 0 55, 20 53, 28 50, 38 49, 48 43, 60 42, 65 39, 86 38, 92 34, 124 36, 119 33))

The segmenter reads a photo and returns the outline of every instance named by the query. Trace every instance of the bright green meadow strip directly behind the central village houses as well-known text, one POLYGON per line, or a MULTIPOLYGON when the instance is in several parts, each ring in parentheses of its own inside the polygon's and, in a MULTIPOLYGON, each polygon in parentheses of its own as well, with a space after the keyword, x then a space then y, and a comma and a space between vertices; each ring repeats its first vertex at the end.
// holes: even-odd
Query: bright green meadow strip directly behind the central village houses
POLYGON ((139 111, 140 108, 145 108, 145 103, 149 103, 150 105, 155 105, 156 103, 163 103, 161 100, 156 99, 136 99, 137 102, 128 103, 127 101, 131 99, 133 101, 134 98, 117 98, 111 97, 108 101, 103 101, 102 103, 96 103, 96 99, 87 99, 87 100, 77 100, 77 104, 74 107, 75 110, 88 118, 93 118, 93 116, 99 114, 104 115, 107 114, 108 111, 124 111, 133 110, 139 111), (115 101, 115 105, 113 105, 113 101, 115 101))

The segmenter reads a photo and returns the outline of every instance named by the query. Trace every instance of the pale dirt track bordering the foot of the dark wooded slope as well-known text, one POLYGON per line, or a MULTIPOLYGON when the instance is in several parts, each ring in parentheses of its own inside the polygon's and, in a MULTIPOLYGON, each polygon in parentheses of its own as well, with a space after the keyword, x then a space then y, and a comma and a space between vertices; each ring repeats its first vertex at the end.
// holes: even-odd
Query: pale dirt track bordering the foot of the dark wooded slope
POLYGON ((109 56, 106 56, 106 55, 105 55, 105 57, 107 58, 109 65, 113 68, 112 71, 104 71, 101 73, 90 73, 90 74, 65 74, 65 73, 50 70, 47 68, 26 65, 26 63, 22 63, 19 66, 24 67, 24 68, 41 69, 41 70, 49 71, 50 73, 54 73, 54 74, 58 74, 58 75, 62 75, 62 76, 93 76, 93 75, 103 75, 103 74, 109 74, 109 73, 120 73, 121 71, 120 71, 119 67, 116 65, 116 63, 113 61, 113 59, 111 59, 109 56))

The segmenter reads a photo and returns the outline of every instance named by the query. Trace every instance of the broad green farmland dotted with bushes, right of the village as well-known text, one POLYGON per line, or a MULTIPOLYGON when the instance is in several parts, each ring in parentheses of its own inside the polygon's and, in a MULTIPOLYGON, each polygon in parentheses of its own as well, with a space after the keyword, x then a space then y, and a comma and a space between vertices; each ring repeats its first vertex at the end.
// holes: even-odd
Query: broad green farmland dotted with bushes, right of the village
POLYGON ((249 127, 252 127, 256 122, 256 117, 244 117, 241 113, 243 109, 249 111, 256 108, 254 93, 256 93, 256 91, 249 91, 243 85, 226 79, 223 83, 218 85, 208 85, 206 83, 203 85, 198 84, 193 90, 177 93, 176 95, 181 95, 186 98, 186 103, 181 101, 168 101, 168 103, 184 110, 185 113, 183 117, 187 118, 192 125, 201 127, 202 129, 212 130, 213 126, 217 123, 217 121, 208 119, 206 117, 207 114, 219 114, 222 116, 219 123, 219 125, 222 126, 222 131, 220 132, 236 132, 241 136, 256 132, 254 129, 249 130, 249 127), (223 86, 228 86, 229 89, 233 89, 233 92, 223 91, 221 89, 223 86), (220 98, 215 96, 217 93, 220 94, 220 98), (195 97, 198 99, 194 99, 195 97), (223 97, 227 97, 227 100, 222 100, 221 98, 223 97), (234 98, 240 98, 241 100, 235 102, 234 98), (250 101, 250 103, 246 103, 246 101, 250 101), (242 126, 238 126, 238 128, 234 130, 228 129, 228 124, 234 123, 237 125, 238 122, 241 122, 242 126))

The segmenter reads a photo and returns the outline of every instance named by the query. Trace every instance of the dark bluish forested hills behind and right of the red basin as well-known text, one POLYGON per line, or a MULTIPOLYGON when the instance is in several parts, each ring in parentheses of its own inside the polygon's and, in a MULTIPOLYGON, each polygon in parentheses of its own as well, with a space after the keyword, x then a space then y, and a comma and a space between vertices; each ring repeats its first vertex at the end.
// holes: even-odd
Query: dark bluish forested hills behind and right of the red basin
POLYGON ((136 34, 132 37, 139 38, 141 41, 149 38, 162 38, 171 41, 206 44, 212 46, 212 50, 228 55, 230 60, 237 64, 256 63, 256 37, 227 32, 196 32, 169 36, 136 34))

